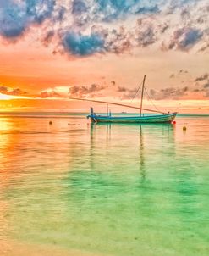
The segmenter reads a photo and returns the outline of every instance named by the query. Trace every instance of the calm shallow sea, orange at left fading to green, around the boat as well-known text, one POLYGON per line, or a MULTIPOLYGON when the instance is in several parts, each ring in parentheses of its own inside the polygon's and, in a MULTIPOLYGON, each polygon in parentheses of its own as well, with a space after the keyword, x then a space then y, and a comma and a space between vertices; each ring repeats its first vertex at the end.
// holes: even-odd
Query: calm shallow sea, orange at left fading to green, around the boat
POLYGON ((1 114, 0 241, 208 255, 209 115, 176 121, 91 125, 79 114, 1 114))

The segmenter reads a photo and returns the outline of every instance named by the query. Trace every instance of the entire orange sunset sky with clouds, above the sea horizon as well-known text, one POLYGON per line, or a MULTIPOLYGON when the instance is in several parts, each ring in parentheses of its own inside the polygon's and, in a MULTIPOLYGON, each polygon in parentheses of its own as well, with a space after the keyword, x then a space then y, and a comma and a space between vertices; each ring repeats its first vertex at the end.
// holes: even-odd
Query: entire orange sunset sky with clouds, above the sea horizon
POLYGON ((0 0, 3 110, 139 104, 146 74, 146 106, 205 113, 208 67, 207 0, 0 0))

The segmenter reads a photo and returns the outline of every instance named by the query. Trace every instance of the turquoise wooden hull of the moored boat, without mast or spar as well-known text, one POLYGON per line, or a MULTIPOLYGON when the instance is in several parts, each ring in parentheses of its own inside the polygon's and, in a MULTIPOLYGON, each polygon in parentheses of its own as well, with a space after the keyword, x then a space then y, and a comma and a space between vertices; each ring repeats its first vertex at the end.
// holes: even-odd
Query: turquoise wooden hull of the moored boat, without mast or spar
POLYGON ((171 123, 176 117, 176 114, 177 113, 174 112, 171 114, 120 117, 90 114, 87 116, 87 118, 90 118, 92 123, 171 123))

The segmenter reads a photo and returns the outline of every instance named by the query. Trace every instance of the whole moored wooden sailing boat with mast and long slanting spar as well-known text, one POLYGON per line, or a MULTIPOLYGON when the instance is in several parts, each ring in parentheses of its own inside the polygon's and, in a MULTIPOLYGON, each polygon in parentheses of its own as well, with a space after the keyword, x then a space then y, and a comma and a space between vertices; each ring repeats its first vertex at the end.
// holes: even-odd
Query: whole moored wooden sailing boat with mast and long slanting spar
POLYGON ((140 108, 129 106, 125 104, 120 103, 109 103, 109 102, 103 102, 103 101, 97 101, 97 100, 91 100, 91 99, 81 99, 81 98, 74 98, 70 97, 70 99, 76 99, 76 100, 84 100, 84 101, 90 101, 94 103, 107 103, 107 115, 99 115, 94 112, 94 109, 91 107, 91 113, 87 116, 88 119, 91 119, 92 123, 171 123, 174 118, 176 117, 177 112, 173 113, 163 113, 158 110, 152 110, 152 109, 144 109, 143 106, 143 97, 144 97, 144 90, 145 90, 145 81, 146 81, 146 75, 144 75, 143 83, 142 83, 142 92, 141 92, 141 98, 140 98, 140 108), (112 116, 111 112, 108 111, 108 104, 112 105, 118 105, 123 106, 131 109, 140 109, 140 114, 138 115, 130 115, 130 116, 112 116), (158 114, 150 114, 145 115, 142 114, 142 110, 146 110, 149 112, 155 112, 158 114))

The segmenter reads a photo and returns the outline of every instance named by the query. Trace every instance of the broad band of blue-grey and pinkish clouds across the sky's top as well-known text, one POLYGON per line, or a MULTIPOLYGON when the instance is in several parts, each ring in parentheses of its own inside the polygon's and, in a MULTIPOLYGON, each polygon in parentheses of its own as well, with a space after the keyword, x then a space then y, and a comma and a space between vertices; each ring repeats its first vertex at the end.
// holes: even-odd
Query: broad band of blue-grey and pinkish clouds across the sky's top
POLYGON ((204 52, 207 10, 204 0, 0 0, 0 36, 16 42, 31 26, 44 24, 43 45, 76 58, 154 44, 189 51, 204 42, 204 52))

